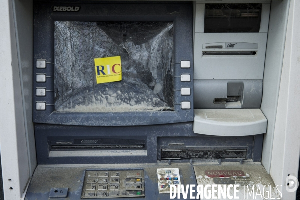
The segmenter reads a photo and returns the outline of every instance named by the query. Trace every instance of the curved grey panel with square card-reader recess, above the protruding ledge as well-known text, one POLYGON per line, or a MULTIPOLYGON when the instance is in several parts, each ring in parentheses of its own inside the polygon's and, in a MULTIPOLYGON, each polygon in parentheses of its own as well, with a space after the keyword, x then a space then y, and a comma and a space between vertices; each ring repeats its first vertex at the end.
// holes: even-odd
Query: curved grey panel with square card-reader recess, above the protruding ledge
POLYGON ((214 104, 213 100, 227 97, 228 82, 243 82, 241 108, 260 108, 262 80, 194 80, 194 108, 226 108, 226 104, 214 104))

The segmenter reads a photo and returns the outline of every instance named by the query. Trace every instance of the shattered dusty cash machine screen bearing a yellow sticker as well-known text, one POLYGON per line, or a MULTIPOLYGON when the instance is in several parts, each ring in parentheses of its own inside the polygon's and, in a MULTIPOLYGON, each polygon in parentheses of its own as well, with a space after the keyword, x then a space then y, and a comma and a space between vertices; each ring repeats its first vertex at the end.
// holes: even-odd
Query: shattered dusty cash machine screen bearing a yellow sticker
POLYGON ((172 22, 54 23, 55 111, 173 110, 172 22), (121 79, 97 82, 107 74, 121 79))

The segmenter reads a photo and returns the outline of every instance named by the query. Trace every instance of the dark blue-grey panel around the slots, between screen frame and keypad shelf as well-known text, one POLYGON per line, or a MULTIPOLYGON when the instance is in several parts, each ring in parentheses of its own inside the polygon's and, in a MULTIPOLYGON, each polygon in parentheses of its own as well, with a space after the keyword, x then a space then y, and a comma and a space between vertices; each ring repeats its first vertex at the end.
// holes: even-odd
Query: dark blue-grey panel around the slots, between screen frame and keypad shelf
MULTIPOLYGON (((245 137, 219 137, 196 134, 193 132, 192 122, 151 126, 123 126, 123 127, 91 127, 91 126, 63 126, 50 124, 35 124, 37 158, 39 164, 116 164, 116 163, 157 163, 159 160, 162 141, 169 143, 184 143, 185 146, 202 146, 240 148, 250 146, 256 142, 255 136, 245 137), (146 143, 145 148, 139 154, 125 154, 117 156, 115 153, 108 153, 107 150, 99 149, 98 152, 86 153, 76 151, 60 153, 51 149, 51 141, 68 141, 70 139, 142 139, 146 143), (143 151, 146 150, 146 153, 143 151), (106 156, 103 156, 105 155, 106 156), (56 156, 53 156, 55 155, 56 156), (67 156, 70 154, 71 156, 67 156), (60 156, 61 155, 61 156, 60 156), (63 156, 66 155, 66 156, 63 156), (112 155, 112 156, 111 156, 112 155), (133 156, 132 156, 133 155, 133 156)), ((262 144, 261 144, 262 145, 262 144)), ((257 145, 256 145, 257 146, 257 145)), ((170 146, 171 147, 171 146, 170 146)), ((261 146, 258 145, 258 148, 261 146)), ((90 149, 91 151, 95 149, 90 149)), ((116 149, 121 150, 121 149, 116 149)), ((85 151, 85 152, 84 152, 85 151)), ((248 158, 252 157, 252 147, 249 147, 248 158)))

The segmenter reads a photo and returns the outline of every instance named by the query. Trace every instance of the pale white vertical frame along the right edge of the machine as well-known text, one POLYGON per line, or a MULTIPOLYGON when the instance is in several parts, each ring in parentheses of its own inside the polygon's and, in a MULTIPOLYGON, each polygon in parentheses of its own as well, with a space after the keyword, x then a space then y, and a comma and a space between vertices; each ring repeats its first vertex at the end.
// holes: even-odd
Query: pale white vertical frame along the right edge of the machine
MULTIPOLYGON (((290 175, 298 177, 300 157, 300 1, 291 0, 285 41, 283 68, 274 130, 270 174, 282 185, 282 199, 295 199, 296 191, 287 192, 290 175)), ((280 187, 279 187, 280 188, 280 187)))

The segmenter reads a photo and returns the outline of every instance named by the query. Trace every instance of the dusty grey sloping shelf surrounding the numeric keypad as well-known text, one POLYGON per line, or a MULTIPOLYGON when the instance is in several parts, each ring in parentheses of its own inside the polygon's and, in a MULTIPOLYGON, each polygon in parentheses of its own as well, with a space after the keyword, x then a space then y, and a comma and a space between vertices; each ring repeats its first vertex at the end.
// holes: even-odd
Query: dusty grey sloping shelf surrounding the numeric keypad
MULTIPOLYGON (((113 164, 93 166, 42 166, 38 165, 31 179, 26 200, 48 200, 50 190, 54 187, 69 188, 66 199, 81 199, 84 174, 86 170, 144 170, 145 197, 132 197, 126 199, 170 199, 169 194, 159 194, 157 184, 157 168, 179 168, 181 183, 196 185, 193 166, 190 164, 113 164)), ((189 192, 187 199, 189 198, 189 192)), ((195 196, 195 195, 194 195, 195 196)), ((119 199, 119 198, 110 198, 119 199)), ((181 194, 181 199, 183 199, 181 194)))

